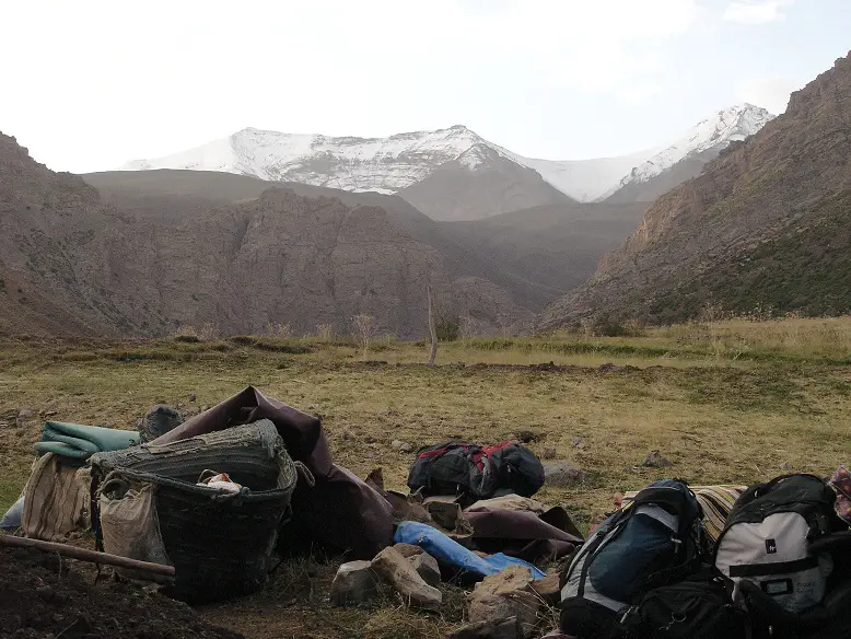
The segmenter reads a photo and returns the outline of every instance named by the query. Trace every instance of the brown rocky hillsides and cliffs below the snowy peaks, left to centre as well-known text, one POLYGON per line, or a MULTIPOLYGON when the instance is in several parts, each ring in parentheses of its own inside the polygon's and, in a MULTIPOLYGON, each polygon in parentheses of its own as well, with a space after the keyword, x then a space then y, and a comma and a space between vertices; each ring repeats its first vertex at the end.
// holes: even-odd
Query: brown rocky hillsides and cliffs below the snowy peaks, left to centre
POLYGON ((396 196, 269 188, 245 176, 80 177, 0 138, 0 332, 160 335, 211 324, 312 332, 374 315, 426 332, 430 282, 446 314, 528 326, 551 291, 447 239, 396 196), (329 193, 341 197, 328 197, 329 193))

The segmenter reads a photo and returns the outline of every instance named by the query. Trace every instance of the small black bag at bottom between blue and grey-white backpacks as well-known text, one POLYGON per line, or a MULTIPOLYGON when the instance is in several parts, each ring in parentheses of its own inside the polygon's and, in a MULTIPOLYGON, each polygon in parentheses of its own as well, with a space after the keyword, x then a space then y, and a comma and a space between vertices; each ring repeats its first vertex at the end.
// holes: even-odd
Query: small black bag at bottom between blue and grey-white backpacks
POLYGON ((744 639, 747 616, 733 605, 711 567, 651 590, 621 624, 637 639, 744 639))

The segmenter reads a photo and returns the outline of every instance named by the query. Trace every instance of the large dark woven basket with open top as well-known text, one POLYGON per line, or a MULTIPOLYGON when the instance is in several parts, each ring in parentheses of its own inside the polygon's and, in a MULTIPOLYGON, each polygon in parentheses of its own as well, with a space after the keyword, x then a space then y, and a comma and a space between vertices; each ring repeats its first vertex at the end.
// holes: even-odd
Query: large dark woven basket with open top
MULTIPOLYGON (((260 435, 254 446, 233 457, 226 455, 233 450, 234 438, 222 437, 202 445, 196 440, 203 438, 185 440, 197 448, 175 442, 167 448, 180 453, 166 456, 136 451, 135 467, 113 465, 128 462, 128 457, 98 461, 98 473, 108 472, 104 485, 118 479, 154 486, 160 534, 176 572, 170 594, 176 599, 189 603, 221 601, 255 592, 266 582, 278 530, 289 512, 296 483, 296 466, 283 440, 277 431, 272 435, 269 427, 275 429, 271 422, 229 429, 244 431, 236 433, 240 442, 253 440, 247 431, 260 435), (269 444, 259 446, 265 451, 259 456, 250 452, 258 450, 257 441, 269 444), (149 472, 150 467, 159 472, 149 472), (273 477, 270 468, 276 470, 273 477), (242 490, 229 493, 197 485, 203 469, 228 473, 243 485, 242 490)), ((228 431, 212 434, 224 433, 228 431)))

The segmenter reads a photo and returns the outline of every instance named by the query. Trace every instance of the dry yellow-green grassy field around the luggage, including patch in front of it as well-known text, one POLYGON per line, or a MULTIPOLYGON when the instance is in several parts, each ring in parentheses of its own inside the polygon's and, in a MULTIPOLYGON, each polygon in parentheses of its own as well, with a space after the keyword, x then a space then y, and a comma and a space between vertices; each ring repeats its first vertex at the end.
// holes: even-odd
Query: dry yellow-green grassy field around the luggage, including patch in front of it
MULTIPOLYGON (((849 318, 471 338, 442 345, 433 369, 418 363, 427 357, 426 345, 389 338, 374 340, 365 358, 346 339, 5 341, 0 509, 26 479, 45 417, 135 428, 153 404, 202 408, 247 384, 320 415, 340 464, 361 476, 381 466, 396 489, 413 455, 396 452, 394 439, 418 446, 531 431, 537 453, 555 449, 587 470, 582 486, 539 493, 581 527, 610 509, 615 492, 664 475, 749 483, 851 462, 849 318), (642 467, 653 450, 673 467, 642 467)), ((411 614, 392 596, 370 608, 327 608, 334 568, 322 558, 288 566, 265 593, 203 614, 264 638, 439 637, 463 621, 463 592, 452 586, 441 617, 411 614)))

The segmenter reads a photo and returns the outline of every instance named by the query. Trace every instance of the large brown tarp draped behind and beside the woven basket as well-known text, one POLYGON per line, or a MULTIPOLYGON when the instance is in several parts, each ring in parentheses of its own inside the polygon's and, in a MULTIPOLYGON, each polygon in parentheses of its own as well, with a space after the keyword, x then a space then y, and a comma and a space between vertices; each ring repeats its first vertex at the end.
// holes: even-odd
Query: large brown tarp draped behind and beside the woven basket
MULTIPOLYGON (((301 536, 350 551, 352 559, 372 559, 393 542, 390 504, 364 481, 334 464, 322 422, 248 386, 233 397, 193 417, 152 444, 164 444, 232 426, 269 419, 287 452, 313 473, 316 485, 299 481, 289 524, 301 536)), ((217 468, 218 470, 218 468, 217 468)), ((302 539, 306 541, 306 539, 302 539)))

